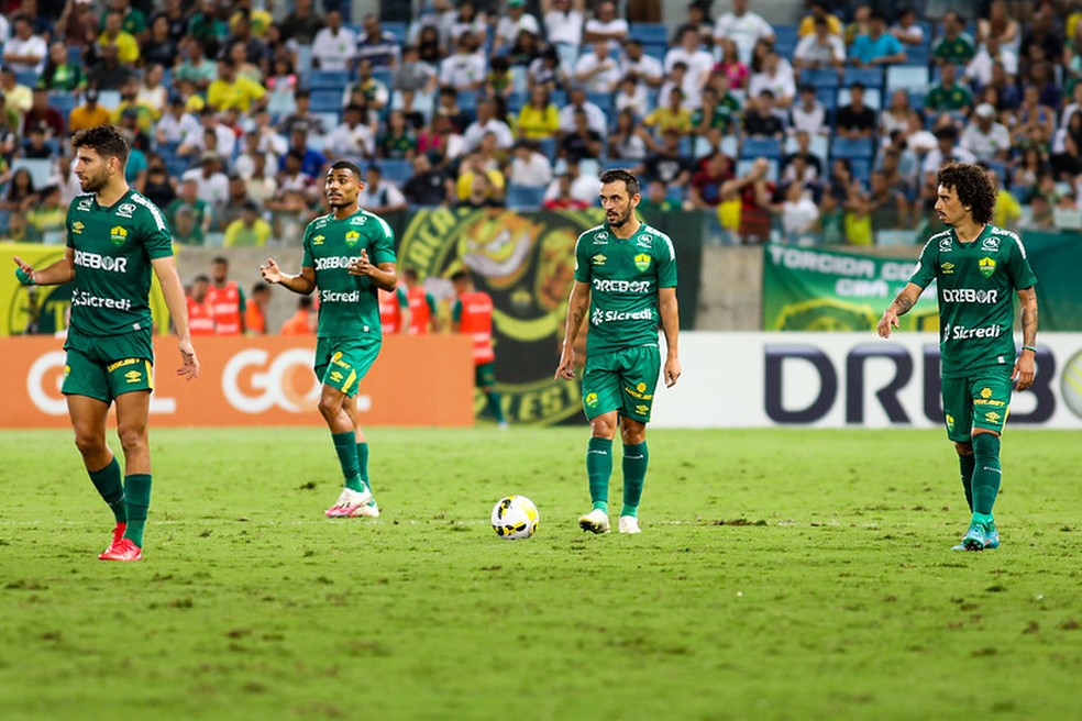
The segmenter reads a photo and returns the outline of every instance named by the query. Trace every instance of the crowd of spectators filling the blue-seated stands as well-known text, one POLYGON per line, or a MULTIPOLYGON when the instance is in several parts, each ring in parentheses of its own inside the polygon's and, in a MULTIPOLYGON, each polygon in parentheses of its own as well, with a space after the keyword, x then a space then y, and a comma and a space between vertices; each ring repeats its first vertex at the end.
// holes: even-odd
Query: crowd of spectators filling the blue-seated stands
POLYGON ((673 26, 609 0, 432 0, 408 25, 330 0, 9 0, 0 236, 63 242, 66 137, 104 122, 179 244, 299 243, 339 158, 378 214, 584 208, 628 167, 643 208, 707 211, 725 241, 857 245, 914 242, 939 164, 976 159, 995 224, 1082 226, 1082 2, 916 3, 771 25, 695 1, 673 26))

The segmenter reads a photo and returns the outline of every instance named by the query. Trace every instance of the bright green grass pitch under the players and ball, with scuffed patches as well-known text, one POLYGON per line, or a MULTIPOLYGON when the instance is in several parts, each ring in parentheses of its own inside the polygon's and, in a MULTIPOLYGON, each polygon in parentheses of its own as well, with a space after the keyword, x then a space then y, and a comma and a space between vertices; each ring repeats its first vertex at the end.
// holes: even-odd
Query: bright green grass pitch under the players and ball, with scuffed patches
POLYGON ((1079 714, 1078 434, 1008 433, 958 553, 938 431, 652 431, 643 533, 594 536, 581 428, 371 431, 374 521, 322 517, 325 431, 154 430, 140 564, 69 432, 0 439, 5 720, 1079 714))

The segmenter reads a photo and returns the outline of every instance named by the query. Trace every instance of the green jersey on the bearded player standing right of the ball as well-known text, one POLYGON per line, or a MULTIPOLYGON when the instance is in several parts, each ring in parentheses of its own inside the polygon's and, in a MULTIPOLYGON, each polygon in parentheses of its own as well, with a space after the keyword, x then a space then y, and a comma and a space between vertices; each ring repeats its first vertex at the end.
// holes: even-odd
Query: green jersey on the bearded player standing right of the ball
POLYGON ((645 223, 628 239, 592 228, 575 245, 575 280, 589 284, 587 355, 656 346, 658 289, 676 287, 673 242, 645 223))

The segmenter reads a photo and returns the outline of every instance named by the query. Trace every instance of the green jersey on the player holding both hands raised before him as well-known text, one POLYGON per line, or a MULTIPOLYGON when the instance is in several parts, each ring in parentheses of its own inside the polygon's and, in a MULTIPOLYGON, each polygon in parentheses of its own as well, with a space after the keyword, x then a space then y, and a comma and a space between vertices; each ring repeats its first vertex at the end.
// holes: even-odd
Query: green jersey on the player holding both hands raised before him
POLYGON ((301 265, 316 269, 319 288, 319 337, 382 337, 378 288, 369 278, 351 276, 350 263, 368 252, 374 265, 395 263, 395 233, 366 210, 349 218, 317 218, 305 229, 301 265))

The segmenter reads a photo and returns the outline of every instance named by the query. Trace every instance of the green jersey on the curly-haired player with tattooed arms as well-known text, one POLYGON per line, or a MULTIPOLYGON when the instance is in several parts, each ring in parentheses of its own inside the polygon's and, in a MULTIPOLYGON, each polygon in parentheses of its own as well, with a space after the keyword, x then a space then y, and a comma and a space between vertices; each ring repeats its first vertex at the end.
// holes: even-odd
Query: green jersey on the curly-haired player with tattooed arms
POLYGON ((972 243, 953 228, 936 233, 909 278, 921 288, 937 281, 939 357, 943 378, 961 378, 1015 359, 1014 295, 1037 282, 1022 239, 985 225, 972 243))

